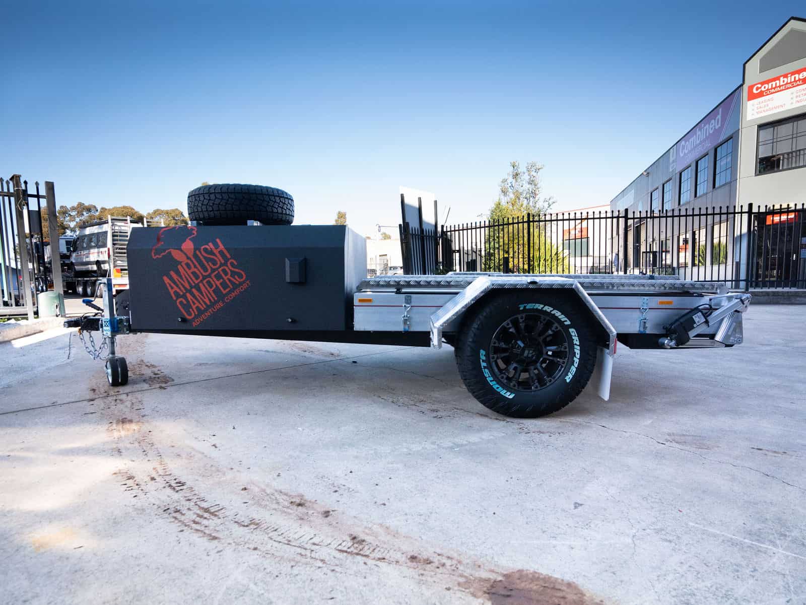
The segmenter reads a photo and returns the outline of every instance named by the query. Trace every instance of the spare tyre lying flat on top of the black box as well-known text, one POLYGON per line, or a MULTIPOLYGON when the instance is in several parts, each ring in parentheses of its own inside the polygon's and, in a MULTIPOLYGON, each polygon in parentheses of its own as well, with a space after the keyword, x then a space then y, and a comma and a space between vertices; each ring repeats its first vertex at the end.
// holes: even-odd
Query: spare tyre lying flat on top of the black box
POLYGON ((290 225, 294 198, 274 187, 256 184, 208 184, 188 193, 188 217, 205 225, 290 225))

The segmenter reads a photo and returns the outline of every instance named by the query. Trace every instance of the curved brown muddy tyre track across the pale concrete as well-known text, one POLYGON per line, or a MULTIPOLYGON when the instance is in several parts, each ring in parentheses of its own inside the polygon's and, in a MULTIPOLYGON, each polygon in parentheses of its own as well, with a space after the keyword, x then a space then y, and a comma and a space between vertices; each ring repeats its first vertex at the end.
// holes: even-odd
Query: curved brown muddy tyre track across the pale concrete
MULTIPOLYGON (((139 367, 136 369, 140 371, 139 367)), ((106 383, 99 390, 108 391, 106 383)), ((303 495, 269 486, 252 483, 246 496, 239 487, 231 498, 246 499, 251 512, 258 509, 266 517, 242 515, 234 508, 211 503, 193 482, 172 470, 155 434, 147 429, 142 398, 136 392, 119 393, 107 399, 108 403, 102 407, 103 413, 112 418, 106 431, 113 453, 132 459, 139 452, 140 457, 140 462, 135 459, 115 474, 124 491, 136 492, 133 497, 142 496, 158 516, 177 525, 179 532, 247 549, 262 557, 327 566, 337 573, 354 571, 344 557, 356 557, 364 564, 392 565, 413 574, 412 578, 418 582, 433 584, 434 589, 451 582, 467 595, 487 599, 495 605, 601 603, 571 582, 527 570, 502 572, 481 562, 439 553, 391 528, 366 527, 360 520, 334 513, 303 495)), ((424 402, 412 403, 418 406, 424 402)), ((455 443, 451 441, 450 445, 455 443)))

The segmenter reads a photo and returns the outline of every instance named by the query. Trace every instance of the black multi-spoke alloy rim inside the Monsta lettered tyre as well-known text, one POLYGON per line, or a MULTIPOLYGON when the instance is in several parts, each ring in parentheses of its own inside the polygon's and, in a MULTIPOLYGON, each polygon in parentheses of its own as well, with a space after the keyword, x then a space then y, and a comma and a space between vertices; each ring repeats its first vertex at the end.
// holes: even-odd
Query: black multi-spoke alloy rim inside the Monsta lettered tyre
POLYGON ((563 376, 569 354, 567 335, 557 321, 521 313, 509 317, 492 335, 489 365, 501 383, 534 392, 563 376))

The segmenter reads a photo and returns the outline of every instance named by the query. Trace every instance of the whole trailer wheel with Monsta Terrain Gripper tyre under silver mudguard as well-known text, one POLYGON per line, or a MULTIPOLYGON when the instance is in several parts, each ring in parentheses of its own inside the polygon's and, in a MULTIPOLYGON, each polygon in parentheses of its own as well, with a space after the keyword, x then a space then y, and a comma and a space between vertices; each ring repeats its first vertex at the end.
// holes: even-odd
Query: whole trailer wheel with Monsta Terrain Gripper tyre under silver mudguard
POLYGON ((483 301, 456 343, 459 375, 493 412, 536 418, 570 404, 596 364, 588 316, 570 296, 507 292, 483 301))

